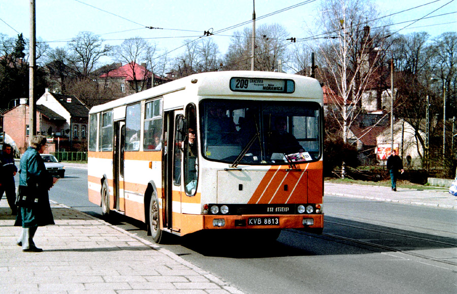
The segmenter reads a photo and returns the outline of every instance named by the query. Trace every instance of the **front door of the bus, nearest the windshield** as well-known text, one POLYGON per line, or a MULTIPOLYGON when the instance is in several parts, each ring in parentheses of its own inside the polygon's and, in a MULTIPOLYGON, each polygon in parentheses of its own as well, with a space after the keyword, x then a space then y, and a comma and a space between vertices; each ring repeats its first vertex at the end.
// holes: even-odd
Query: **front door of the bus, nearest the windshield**
POLYGON ((173 211, 181 212, 181 178, 182 178, 182 146, 185 120, 182 109, 166 112, 164 122, 164 191, 165 199, 162 203, 164 210, 164 228, 179 232, 179 218, 173 217, 173 211))

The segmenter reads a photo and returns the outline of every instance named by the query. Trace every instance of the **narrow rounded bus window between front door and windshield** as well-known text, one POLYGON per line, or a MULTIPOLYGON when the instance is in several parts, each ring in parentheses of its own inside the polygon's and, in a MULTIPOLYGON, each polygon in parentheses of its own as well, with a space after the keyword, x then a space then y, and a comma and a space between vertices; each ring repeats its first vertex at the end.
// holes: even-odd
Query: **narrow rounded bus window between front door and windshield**
POLYGON ((197 192, 199 170, 199 147, 195 105, 189 104, 186 107, 186 118, 188 135, 184 146, 184 190, 187 196, 193 196, 195 195, 195 192, 197 192))

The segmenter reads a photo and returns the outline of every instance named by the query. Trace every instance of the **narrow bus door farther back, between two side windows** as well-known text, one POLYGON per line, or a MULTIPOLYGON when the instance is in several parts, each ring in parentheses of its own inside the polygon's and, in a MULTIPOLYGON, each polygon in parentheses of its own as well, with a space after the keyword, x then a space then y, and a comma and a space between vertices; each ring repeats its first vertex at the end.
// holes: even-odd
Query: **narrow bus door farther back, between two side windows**
POLYGON ((125 211, 124 201, 124 142, 125 121, 114 122, 114 153, 113 153, 113 209, 125 211))

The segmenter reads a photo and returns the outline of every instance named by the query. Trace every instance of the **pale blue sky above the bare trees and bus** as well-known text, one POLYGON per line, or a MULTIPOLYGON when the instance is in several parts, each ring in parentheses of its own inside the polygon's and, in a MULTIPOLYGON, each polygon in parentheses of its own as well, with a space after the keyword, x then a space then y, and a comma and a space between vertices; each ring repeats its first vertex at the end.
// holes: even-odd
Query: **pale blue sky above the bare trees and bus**
MULTIPOLYGON (((230 44, 230 35, 244 27, 252 28, 252 23, 249 22, 253 11, 251 0, 35 1, 37 38, 49 42, 52 48, 64 47, 81 31, 91 31, 110 45, 119 45, 124 39, 140 36, 155 42, 161 52, 171 52, 170 56, 173 57, 181 53, 180 49, 174 49, 183 45, 186 39, 194 40, 202 36, 204 31, 217 32, 247 22, 211 37, 220 53, 224 54, 230 44)), ((320 0, 254 1, 256 27, 278 23, 290 33, 291 38, 296 39, 310 36, 309 28, 313 27, 320 5, 320 0), (283 12, 262 18, 289 7, 291 8, 283 12)), ((390 20, 394 23, 391 31, 411 23, 405 21, 420 19, 430 13, 428 17, 436 17, 421 19, 399 33, 427 31, 434 37, 445 31, 457 31, 457 0, 375 0, 374 3, 378 6, 380 15, 390 15, 422 5, 391 16, 390 20), (447 15, 438 16, 442 14, 447 15)), ((0 0, 0 33, 16 38, 19 32, 28 39, 29 15, 29 1, 0 0)))

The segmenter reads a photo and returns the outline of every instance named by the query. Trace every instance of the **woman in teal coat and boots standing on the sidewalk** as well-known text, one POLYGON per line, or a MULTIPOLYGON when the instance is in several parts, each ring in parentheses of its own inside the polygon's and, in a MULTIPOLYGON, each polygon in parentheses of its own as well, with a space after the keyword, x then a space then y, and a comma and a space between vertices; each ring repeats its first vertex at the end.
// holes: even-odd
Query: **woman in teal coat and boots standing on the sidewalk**
POLYGON ((22 227, 17 245, 24 252, 42 252, 35 246, 34 235, 38 227, 54 225, 48 190, 57 181, 44 165, 40 154, 46 149, 45 136, 32 136, 30 147, 22 155, 19 169, 18 211, 14 226, 22 227))

